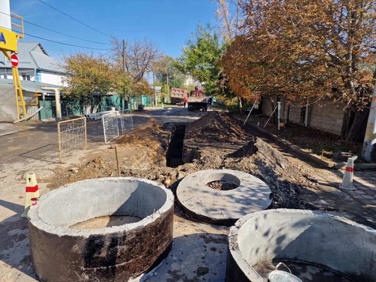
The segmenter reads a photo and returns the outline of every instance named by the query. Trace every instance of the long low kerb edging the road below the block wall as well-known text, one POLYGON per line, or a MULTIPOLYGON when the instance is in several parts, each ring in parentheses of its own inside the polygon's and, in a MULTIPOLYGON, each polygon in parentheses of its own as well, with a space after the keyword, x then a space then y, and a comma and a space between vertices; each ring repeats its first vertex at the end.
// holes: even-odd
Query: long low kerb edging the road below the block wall
MULTIPOLYGON (((235 120, 238 120, 238 121, 241 121, 242 123, 244 123, 244 121, 241 120, 238 117, 235 117, 233 115, 231 115, 231 117, 235 118, 235 120)), ((319 165, 322 165, 323 167, 329 167, 329 168, 344 168, 344 167, 346 167, 346 162, 325 161, 325 160, 321 159, 320 156, 318 156, 316 154, 312 154, 308 150, 305 150, 305 149, 303 149, 299 146, 294 145, 293 143, 290 143, 290 142, 288 142, 284 139, 281 139, 277 135, 274 135, 270 132, 267 132, 266 130, 262 129, 259 126, 255 126, 255 125, 249 124, 249 123, 246 123, 246 126, 252 128, 252 129, 258 130, 259 132, 261 132, 261 133, 267 135, 268 137, 270 137, 271 139, 283 144, 284 146, 288 147, 289 149, 293 150, 294 152, 299 153, 300 155, 303 155, 303 156, 311 159, 312 161, 314 161, 315 163, 317 163, 319 165)), ((376 164, 373 164, 373 163, 370 163, 370 164, 354 164, 354 169, 369 169, 369 168, 376 168, 376 164)))

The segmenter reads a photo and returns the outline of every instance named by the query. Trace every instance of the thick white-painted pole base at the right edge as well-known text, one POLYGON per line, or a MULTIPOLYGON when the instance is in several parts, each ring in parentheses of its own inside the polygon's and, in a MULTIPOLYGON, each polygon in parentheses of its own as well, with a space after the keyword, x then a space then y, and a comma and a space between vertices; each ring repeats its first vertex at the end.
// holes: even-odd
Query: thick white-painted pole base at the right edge
POLYGON ((373 145, 376 143, 376 84, 373 87, 373 95, 372 95, 372 102, 370 108, 370 114, 368 115, 368 123, 367 129, 365 130, 364 136, 364 143, 363 143, 363 150, 362 150, 362 157, 367 160, 371 161, 371 152, 373 149, 373 145))

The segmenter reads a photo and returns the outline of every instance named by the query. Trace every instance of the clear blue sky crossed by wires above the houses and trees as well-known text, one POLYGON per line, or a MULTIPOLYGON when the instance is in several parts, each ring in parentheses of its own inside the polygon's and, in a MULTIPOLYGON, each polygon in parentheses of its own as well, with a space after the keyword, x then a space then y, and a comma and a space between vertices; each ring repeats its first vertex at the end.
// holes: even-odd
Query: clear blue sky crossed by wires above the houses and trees
MULTIPOLYGON (((198 23, 214 24, 216 8, 209 0, 43 0, 54 8, 76 18, 106 34, 115 34, 120 39, 149 36, 170 56, 180 55, 180 49, 198 23)), ((11 12, 26 21, 58 32, 91 41, 108 43, 108 37, 55 11, 38 0, 10 0, 11 12)), ((108 48, 54 33, 29 23, 24 23, 24 32, 67 44, 108 48)), ((25 35, 21 41, 40 42, 46 52, 55 59, 61 54, 82 51, 82 48, 57 44, 25 35)), ((94 52, 107 53, 105 50, 94 52)))

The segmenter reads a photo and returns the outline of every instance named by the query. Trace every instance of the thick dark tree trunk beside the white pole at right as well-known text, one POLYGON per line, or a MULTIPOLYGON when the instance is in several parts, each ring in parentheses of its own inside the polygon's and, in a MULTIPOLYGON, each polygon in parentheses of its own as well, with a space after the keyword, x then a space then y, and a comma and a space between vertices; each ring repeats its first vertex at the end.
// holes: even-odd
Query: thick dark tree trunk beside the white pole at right
POLYGON ((348 108, 343 115, 340 138, 352 142, 364 141, 369 112, 370 109, 368 108, 364 108, 363 111, 358 111, 356 104, 348 108))

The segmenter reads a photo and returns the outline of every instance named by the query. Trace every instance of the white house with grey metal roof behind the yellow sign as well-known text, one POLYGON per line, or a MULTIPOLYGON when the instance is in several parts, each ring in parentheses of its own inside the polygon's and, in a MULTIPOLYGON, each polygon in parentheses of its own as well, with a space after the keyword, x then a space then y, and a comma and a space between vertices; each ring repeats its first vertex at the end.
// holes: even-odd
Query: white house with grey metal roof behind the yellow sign
MULTIPOLYGON (((18 42, 20 80, 64 86, 64 70, 38 42, 18 42)), ((11 63, 0 56, 0 78, 13 79, 11 63)))

